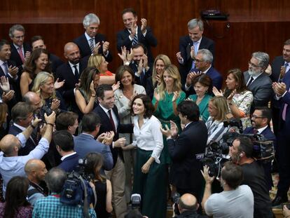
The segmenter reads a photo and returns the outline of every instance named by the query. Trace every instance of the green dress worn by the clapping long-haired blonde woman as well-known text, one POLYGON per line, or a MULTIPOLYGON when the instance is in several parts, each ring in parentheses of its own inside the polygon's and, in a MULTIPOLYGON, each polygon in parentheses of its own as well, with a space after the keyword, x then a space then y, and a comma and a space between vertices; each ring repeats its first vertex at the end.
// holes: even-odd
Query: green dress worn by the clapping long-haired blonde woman
MULTIPOLYGON (((170 128, 170 121, 173 121, 177 124, 177 127, 179 128, 179 133, 181 132, 181 125, 180 125, 180 119, 179 116, 174 115, 173 111, 173 103, 172 103, 172 97, 173 93, 168 94, 165 91, 165 97, 163 100, 160 100, 158 103, 158 107, 156 111, 154 112, 154 116, 156 116, 159 121, 161 122, 163 128, 165 128, 165 125, 168 125, 168 128, 170 128)), ((179 97, 177 98, 177 105, 184 101, 186 99, 186 94, 181 91, 179 93, 179 97)), ((153 97, 152 100, 153 105, 156 103, 156 98, 153 97)), ((167 147, 167 139, 165 136, 163 136, 163 157, 165 158, 164 163, 170 163, 170 154, 167 147)))

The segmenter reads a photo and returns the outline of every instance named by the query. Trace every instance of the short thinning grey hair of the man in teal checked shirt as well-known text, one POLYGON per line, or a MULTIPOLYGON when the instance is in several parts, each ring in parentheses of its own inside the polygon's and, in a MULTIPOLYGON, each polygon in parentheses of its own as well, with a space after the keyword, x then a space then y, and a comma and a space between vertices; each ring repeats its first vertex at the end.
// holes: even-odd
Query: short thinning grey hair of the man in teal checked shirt
POLYGON ((51 192, 62 192, 62 186, 67 179, 67 173, 61 168, 51 168, 46 174, 45 181, 48 189, 51 192))

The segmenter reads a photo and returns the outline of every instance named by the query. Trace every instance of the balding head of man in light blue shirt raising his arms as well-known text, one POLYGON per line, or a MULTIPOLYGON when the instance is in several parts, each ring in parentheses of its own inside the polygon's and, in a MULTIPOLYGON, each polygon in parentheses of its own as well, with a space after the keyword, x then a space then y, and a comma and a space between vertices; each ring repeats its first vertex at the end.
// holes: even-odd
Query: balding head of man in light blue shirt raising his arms
POLYGON ((18 138, 11 134, 4 136, 0 141, 0 149, 6 156, 18 156, 20 147, 18 138))

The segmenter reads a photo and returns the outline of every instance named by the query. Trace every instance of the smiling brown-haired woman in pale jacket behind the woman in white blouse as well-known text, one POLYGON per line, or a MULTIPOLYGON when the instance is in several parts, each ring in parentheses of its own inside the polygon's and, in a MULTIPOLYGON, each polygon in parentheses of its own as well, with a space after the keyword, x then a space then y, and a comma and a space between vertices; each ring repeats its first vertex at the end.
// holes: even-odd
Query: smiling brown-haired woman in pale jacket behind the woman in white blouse
MULTIPOLYGON (((120 83, 120 88, 115 92, 115 104, 118 108, 120 123, 132 123, 131 118, 131 100, 135 95, 146 94, 145 88, 134 84, 134 72, 128 66, 120 66, 116 71, 116 83, 120 83)), ((126 144, 132 143, 131 133, 120 133, 119 137, 126 138, 126 144)), ((125 161, 125 196, 127 203, 131 200, 132 193, 132 169, 134 171, 134 159, 136 156, 136 149, 123 151, 125 161)))

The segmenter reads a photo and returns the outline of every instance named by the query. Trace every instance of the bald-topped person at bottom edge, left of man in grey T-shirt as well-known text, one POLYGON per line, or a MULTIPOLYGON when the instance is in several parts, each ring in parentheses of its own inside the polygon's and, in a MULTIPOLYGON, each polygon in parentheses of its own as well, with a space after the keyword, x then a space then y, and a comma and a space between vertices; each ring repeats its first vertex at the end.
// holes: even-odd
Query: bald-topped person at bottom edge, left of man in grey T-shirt
POLYGON ((198 214, 197 210, 200 205, 195 196, 190 193, 185 193, 181 198, 179 198, 179 203, 177 205, 180 215, 175 215, 173 210, 172 217, 174 218, 205 218, 207 216, 202 216, 198 214))

